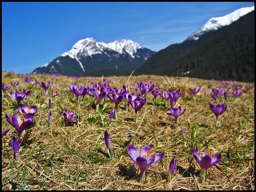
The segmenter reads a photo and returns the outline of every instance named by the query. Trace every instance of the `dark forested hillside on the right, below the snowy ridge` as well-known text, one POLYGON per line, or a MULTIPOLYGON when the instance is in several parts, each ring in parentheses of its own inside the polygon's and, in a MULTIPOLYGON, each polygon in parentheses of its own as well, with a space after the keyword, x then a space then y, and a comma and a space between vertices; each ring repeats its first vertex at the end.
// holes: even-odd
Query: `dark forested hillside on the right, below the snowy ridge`
POLYGON ((254 11, 157 52, 134 71, 143 74, 254 82, 254 11))

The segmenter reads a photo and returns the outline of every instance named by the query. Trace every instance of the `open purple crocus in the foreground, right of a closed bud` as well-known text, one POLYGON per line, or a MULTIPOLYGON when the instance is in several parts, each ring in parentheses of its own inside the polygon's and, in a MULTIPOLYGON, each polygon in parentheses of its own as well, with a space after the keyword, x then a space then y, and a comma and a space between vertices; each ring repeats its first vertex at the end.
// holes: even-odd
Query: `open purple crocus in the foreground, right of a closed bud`
POLYGON ((221 161, 221 154, 219 153, 211 157, 211 152, 209 149, 207 149, 206 151, 204 151, 204 154, 202 155, 202 159, 201 159, 196 149, 192 148, 192 152, 196 162, 201 167, 200 179, 202 182, 204 182, 206 170, 210 168, 212 165, 215 165, 221 161))

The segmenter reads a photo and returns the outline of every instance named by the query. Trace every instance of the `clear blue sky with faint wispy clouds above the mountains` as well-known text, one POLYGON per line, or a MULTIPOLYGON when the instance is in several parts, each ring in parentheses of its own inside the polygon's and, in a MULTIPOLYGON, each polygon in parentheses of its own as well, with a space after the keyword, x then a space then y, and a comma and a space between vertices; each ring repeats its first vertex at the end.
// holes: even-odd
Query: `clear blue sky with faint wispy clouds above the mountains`
POLYGON ((88 37, 159 51, 254 2, 2 2, 2 71, 26 74, 88 37))

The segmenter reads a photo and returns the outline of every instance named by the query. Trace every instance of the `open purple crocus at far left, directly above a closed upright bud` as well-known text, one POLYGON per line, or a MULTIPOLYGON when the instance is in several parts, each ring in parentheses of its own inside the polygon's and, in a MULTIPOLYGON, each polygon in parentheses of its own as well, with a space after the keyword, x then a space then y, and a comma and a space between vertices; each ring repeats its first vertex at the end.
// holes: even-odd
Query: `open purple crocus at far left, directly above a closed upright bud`
POLYGON ((20 119, 20 116, 18 116, 17 113, 15 113, 13 116, 12 116, 12 120, 10 119, 9 115, 7 113, 5 113, 5 118, 6 120, 8 121, 9 124, 11 124, 17 131, 18 133, 18 143, 20 143, 20 136, 21 136, 21 133, 25 130, 25 129, 28 129, 30 128, 33 120, 34 120, 34 117, 33 115, 31 114, 28 114, 24 120, 23 119, 23 116, 24 116, 24 113, 21 114, 21 119, 20 119))

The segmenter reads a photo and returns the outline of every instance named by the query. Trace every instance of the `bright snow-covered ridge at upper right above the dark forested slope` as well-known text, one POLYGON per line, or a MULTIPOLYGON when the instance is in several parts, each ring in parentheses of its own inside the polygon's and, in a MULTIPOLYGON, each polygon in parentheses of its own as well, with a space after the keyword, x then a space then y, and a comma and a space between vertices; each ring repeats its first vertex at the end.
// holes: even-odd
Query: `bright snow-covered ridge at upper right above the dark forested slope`
MULTIPOLYGON (((223 26, 230 25, 232 22, 238 20, 240 17, 254 10, 252 7, 243 7, 231 12, 223 17, 212 17, 208 20, 203 27, 199 28, 196 32, 192 33, 186 40, 197 40, 199 37, 209 31, 217 30, 223 26)), ((185 41, 186 41, 185 40, 185 41)))

